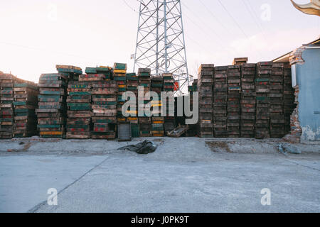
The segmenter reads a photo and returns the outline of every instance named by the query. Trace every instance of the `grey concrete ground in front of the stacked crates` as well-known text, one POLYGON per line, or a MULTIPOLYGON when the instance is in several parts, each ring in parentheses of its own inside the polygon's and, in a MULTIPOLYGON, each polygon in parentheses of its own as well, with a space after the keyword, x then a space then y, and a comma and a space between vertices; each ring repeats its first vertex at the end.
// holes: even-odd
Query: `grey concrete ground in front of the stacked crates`
POLYGON ((0 140, 0 212, 320 211, 319 142, 283 155, 281 140, 149 139, 149 155, 117 150, 143 138, 0 140))

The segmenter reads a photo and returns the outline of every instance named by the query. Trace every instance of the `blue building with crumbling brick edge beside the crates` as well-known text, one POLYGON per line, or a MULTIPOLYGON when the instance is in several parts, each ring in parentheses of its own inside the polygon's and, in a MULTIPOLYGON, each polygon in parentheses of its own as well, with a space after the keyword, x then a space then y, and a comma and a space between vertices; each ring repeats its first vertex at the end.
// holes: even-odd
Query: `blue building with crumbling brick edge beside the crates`
POLYGON ((292 87, 297 108, 291 116, 296 140, 320 140, 320 38, 293 50, 274 62, 292 67, 292 87))

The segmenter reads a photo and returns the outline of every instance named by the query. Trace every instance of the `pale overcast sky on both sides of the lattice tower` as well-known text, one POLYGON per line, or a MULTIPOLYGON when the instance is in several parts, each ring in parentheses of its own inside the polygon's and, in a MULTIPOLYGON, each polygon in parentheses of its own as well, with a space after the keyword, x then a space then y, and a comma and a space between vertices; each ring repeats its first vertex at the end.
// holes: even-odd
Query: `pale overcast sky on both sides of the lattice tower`
MULTIPOLYGON (((234 57, 273 60, 320 34, 320 17, 289 0, 220 1, 227 11, 218 0, 181 0, 191 74, 234 57)), ((0 71, 34 82, 57 64, 84 70, 127 62, 132 71, 138 9, 138 0, 1 0, 0 71)))

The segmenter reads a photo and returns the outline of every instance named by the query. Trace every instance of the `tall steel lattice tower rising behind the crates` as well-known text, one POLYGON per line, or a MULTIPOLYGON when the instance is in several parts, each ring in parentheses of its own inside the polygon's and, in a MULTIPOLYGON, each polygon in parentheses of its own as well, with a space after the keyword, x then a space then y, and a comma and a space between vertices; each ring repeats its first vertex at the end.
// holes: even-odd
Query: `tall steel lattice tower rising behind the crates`
POLYGON ((187 92, 189 74, 180 0, 140 1, 134 72, 137 68, 151 68, 153 75, 173 73, 178 91, 187 92))

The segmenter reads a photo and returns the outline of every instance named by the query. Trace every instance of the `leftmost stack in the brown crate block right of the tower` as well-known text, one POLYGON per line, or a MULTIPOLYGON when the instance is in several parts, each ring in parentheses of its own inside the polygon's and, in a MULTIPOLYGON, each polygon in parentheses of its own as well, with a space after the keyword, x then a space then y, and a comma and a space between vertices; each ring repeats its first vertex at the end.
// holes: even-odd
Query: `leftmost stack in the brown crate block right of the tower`
MULTIPOLYGON (((213 138, 213 75, 214 65, 203 64, 198 70, 199 122, 198 136, 213 138)), ((226 79, 226 78, 225 78, 226 79)))

